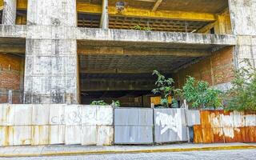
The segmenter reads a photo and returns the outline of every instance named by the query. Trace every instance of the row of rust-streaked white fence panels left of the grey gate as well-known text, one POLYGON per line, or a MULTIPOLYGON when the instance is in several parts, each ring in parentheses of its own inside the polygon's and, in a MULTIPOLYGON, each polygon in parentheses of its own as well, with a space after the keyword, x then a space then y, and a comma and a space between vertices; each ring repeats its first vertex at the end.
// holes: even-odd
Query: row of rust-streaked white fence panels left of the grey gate
POLYGON ((111 106, 0 105, 0 146, 102 146, 113 134, 111 106))

